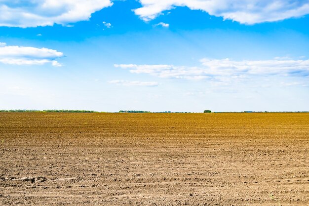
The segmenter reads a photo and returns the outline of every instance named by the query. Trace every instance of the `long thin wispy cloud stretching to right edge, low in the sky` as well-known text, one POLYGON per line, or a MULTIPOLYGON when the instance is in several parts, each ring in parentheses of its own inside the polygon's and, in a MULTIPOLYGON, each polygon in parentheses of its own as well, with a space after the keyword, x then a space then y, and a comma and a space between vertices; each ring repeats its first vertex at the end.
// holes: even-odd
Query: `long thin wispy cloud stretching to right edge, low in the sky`
POLYGON ((233 61, 230 59, 201 59, 198 67, 174 65, 115 64, 134 74, 149 74, 159 78, 187 80, 217 80, 227 82, 249 76, 309 76, 309 60, 233 61))

